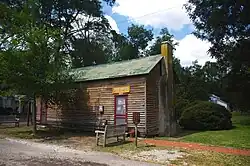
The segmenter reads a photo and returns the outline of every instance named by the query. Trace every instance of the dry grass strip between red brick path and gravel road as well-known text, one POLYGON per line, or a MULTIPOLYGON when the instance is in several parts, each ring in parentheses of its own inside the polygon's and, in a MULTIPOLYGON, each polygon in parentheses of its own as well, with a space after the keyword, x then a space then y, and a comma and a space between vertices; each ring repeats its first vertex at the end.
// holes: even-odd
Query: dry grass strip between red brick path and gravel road
MULTIPOLYGON (((236 155, 222 154, 222 153, 210 152, 210 151, 196 151, 196 150, 176 149, 176 148, 170 148, 170 147, 149 146, 143 143, 139 143, 138 148, 135 148, 134 143, 126 143, 123 145, 111 146, 111 147, 106 147, 106 148, 97 147, 96 150, 100 150, 104 152, 111 152, 111 153, 120 155, 122 157, 125 156, 125 158, 130 158, 130 159, 133 159, 133 154, 136 155, 142 151, 178 150, 180 152, 185 153, 185 155, 175 160, 172 160, 172 161, 170 160, 170 163, 173 165, 206 165, 206 166, 250 165, 249 156, 236 156, 236 155), (128 153, 132 154, 131 157, 128 157, 127 155, 128 153)), ((164 164, 158 161, 150 161, 148 160, 147 156, 145 156, 142 161, 149 161, 153 163, 164 164)))

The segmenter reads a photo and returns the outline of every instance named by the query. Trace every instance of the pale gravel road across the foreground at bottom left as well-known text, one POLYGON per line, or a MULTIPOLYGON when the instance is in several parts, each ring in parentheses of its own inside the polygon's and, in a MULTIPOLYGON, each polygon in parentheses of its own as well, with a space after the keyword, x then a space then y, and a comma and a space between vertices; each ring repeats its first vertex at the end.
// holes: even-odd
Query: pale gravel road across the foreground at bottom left
POLYGON ((154 166, 110 153, 80 151, 26 140, 0 138, 0 166, 154 166))

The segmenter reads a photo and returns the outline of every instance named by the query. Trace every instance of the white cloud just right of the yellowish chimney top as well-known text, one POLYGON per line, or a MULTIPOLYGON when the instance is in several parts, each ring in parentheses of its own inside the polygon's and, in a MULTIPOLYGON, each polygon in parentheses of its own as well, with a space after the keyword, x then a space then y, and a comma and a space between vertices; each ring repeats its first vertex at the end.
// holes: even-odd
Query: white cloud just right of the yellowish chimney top
POLYGON ((199 64, 204 65, 206 61, 215 61, 208 54, 211 46, 209 42, 196 38, 193 34, 185 36, 179 40, 174 55, 180 59, 181 65, 189 66, 193 61, 198 60, 199 64))

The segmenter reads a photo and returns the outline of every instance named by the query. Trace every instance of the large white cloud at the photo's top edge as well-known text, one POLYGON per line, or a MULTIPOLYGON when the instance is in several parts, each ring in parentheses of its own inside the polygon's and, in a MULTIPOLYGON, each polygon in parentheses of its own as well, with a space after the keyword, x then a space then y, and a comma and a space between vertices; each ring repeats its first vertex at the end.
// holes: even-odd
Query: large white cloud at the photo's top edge
POLYGON ((136 23, 155 28, 180 30, 190 24, 183 8, 187 0, 116 0, 113 13, 128 16, 136 23))

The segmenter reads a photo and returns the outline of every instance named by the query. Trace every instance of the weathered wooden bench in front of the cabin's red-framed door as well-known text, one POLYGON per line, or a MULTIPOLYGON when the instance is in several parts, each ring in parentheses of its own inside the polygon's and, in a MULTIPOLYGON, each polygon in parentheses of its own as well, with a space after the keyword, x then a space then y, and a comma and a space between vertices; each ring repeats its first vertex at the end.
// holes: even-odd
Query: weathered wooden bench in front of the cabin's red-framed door
POLYGON ((119 137, 123 137, 123 142, 125 141, 125 134, 126 134, 127 124, 120 124, 120 125, 105 125, 104 130, 96 130, 96 145, 99 145, 99 140, 103 138, 103 147, 107 144, 107 139, 116 137, 117 142, 119 141, 119 137))

